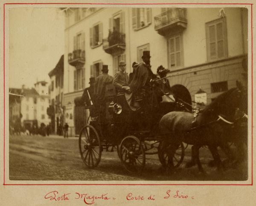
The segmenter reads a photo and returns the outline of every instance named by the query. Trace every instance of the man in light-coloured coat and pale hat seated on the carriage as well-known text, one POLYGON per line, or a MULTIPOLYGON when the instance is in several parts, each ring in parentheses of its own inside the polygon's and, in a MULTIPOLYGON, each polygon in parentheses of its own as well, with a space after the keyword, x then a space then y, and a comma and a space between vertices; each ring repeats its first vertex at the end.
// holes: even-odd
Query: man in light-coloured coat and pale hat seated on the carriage
POLYGON ((117 92, 130 92, 130 87, 128 87, 129 76, 125 71, 125 61, 119 62, 119 71, 115 73, 113 85, 116 87, 117 92))

